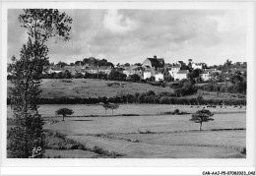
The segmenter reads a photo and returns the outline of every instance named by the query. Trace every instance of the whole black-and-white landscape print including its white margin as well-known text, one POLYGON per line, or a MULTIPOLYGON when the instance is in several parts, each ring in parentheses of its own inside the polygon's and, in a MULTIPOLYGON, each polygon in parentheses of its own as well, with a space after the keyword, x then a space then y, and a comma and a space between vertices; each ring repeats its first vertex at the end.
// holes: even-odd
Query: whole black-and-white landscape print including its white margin
POLYGON ((5 160, 244 166, 255 150, 247 3, 4 6, 5 160))

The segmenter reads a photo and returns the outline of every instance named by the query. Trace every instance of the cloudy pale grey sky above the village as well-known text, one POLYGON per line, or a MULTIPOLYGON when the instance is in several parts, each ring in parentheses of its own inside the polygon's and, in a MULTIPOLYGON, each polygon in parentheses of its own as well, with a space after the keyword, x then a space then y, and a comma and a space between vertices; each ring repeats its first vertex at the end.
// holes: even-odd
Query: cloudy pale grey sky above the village
MULTIPOLYGON (((49 61, 66 63, 88 57, 114 64, 142 63, 157 55, 208 65, 246 61, 246 12, 242 10, 60 10, 73 19, 68 42, 50 39, 49 61)), ((8 10, 8 62, 19 58, 28 35, 8 10)))

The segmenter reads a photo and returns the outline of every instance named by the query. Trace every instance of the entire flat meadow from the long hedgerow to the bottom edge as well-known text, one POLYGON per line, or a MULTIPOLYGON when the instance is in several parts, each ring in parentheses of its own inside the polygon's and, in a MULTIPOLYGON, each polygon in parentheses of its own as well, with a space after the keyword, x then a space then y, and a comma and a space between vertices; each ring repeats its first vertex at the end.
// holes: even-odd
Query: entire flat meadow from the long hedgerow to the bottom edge
MULTIPOLYGON (((109 110, 105 116, 98 105, 41 105, 43 128, 53 134, 47 138, 45 157, 246 157, 245 109, 211 108, 215 120, 203 123, 200 132, 199 124, 189 121, 191 114, 160 115, 176 108, 188 113, 198 110, 188 105, 122 104, 114 116, 109 110), (75 111, 65 121, 54 115, 62 106, 75 111)), ((11 116, 9 108, 8 117, 11 116)))

